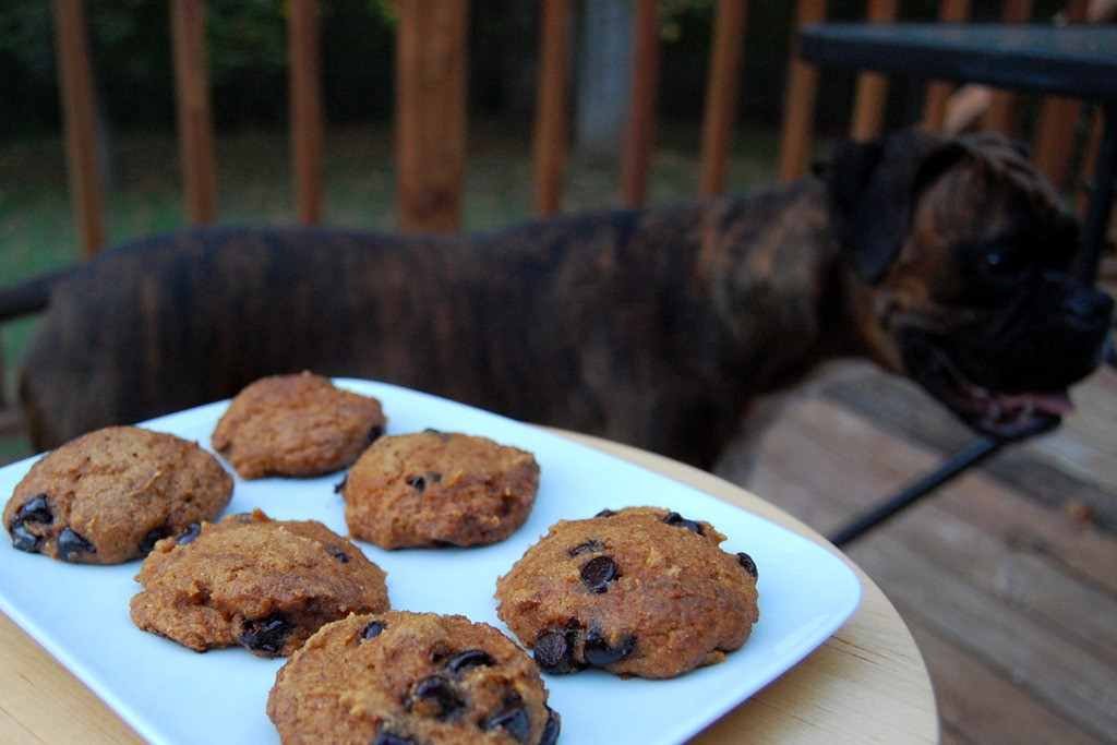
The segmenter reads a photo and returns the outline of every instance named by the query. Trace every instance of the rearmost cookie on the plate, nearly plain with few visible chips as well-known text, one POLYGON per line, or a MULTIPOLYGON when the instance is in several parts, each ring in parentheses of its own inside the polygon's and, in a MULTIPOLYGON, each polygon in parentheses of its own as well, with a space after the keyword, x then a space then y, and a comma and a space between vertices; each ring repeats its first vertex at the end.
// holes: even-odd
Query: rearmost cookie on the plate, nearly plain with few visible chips
POLYGON ((218 420, 211 443, 241 478, 311 477, 353 465, 386 426, 378 399, 304 372, 246 386, 218 420))

